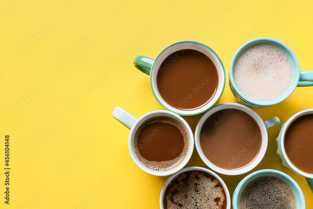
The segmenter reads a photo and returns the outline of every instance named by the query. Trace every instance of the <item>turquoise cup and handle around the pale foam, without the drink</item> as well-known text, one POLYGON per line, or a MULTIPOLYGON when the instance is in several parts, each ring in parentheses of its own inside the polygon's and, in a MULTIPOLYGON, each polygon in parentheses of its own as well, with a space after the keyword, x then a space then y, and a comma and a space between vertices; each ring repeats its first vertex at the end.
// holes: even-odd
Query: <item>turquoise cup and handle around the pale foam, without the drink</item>
POLYGON ((242 104, 248 105, 250 107, 256 107, 256 108, 270 107, 287 99, 292 94, 292 92, 295 91, 296 87, 313 86, 313 71, 300 71, 299 62, 295 53, 289 48, 289 46, 287 46, 283 42, 276 40, 276 39, 272 39, 272 38, 257 38, 257 39, 252 39, 248 41, 247 43, 245 43, 244 45, 242 45, 233 56, 233 59, 230 63, 230 69, 229 69, 229 86, 230 86, 231 91, 233 92, 233 95, 242 104), (294 71, 292 84, 290 85, 288 91, 286 91, 284 95, 282 95, 280 98, 275 99, 273 101, 260 102, 260 101, 251 99, 245 96, 242 93, 242 91, 239 90, 238 86, 235 83, 233 70, 234 70, 237 58, 245 49, 247 49, 248 47, 254 44, 272 44, 278 47, 279 49, 283 50, 291 60, 293 71, 294 71))

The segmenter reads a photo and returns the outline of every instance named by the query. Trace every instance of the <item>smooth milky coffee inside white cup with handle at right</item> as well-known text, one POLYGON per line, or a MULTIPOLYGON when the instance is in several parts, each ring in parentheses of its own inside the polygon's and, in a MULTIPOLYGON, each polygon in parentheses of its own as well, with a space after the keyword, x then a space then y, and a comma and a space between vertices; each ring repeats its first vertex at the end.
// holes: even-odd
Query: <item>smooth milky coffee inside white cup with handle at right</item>
POLYGON ((222 169, 236 170, 249 165, 259 154, 261 144, 258 123, 237 109, 213 113, 200 130, 203 154, 222 169))

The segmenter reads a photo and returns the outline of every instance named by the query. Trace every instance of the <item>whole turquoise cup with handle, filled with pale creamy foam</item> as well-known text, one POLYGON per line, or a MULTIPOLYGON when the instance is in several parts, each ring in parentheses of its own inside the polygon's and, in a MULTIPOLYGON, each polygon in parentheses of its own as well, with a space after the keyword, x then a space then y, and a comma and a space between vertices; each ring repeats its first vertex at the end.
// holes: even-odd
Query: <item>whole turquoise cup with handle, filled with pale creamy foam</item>
MULTIPOLYGON (((251 48, 250 48, 251 49, 251 48)), ((256 49, 257 50, 257 49, 256 49)), ((269 49, 270 50, 270 49, 269 49)), ((272 49, 273 50, 273 49, 272 49)), ((275 49, 274 49, 275 50, 275 49)), ((259 51, 254 51, 253 53, 256 53, 259 51)), ((254 54, 245 54, 245 56, 254 56, 254 54)), ((255 54, 255 57, 259 56, 258 54, 255 54)), ((277 55, 275 57, 275 59, 279 59, 279 60, 274 60, 277 61, 277 65, 280 65, 280 59, 281 59, 281 55, 277 55)), ((240 58, 242 59, 242 58, 240 58)), ((262 58, 263 59, 263 58, 262 58)), ((265 63, 264 59, 260 60, 260 63, 265 63)), ((242 59, 243 60, 243 59, 242 59)), ((251 59, 247 59, 249 61, 251 61, 251 59)), ((249 62, 248 61, 248 62, 249 62)), ((272 60, 270 60, 269 62, 272 62, 272 60)), ((243 66, 247 66, 247 69, 251 69, 246 63, 245 61, 242 61, 243 66)), ((239 64, 238 64, 239 65, 239 64)), ((258 64, 254 64, 254 66, 257 66, 258 64)), ((272 65, 273 66, 273 65, 272 65)), ((276 64, 275 64, 276 66, 276 64)), ((257 67, 254 67, 254 69, 257 69, 257 67)), ((277 68, 278 69, 278 68, 277 68)), ((285 68, 287 69, 287 68, 285 68)), ((240 69, 241 70, 241 69, 240 69)), ((273 66, 273 70, 276 70, 276 67, 273 66)), ((245 73, 245 71, 241 71, 242 73, 245 73)), ((260 71, 261 73, 259 73, 259 75, 264 75, 263 71, 260 71)), ((285 72, 285 70, 284 70, 285 72)), ((285 75, 286 73, 281 73, 283 75, 285 75)), ((251 73, 246 73, 246 75, 252 75, 251 73)), ((258 76, 255 76, 258 77, 258 76)), ((259 76, 259 79, 261 79, 262 77, 259 76)), ((229 86, 231 88, 231 91, 233 92, 233 95, 236 97, 236 99, 241 102, 242 104, 248 105, 250 107, 256 107, 256 108, 263 108, 263 107, 270 107, 273 106, 275 104, 278 104, 282 101, 284 101, 286 98, 288 98, 292 92, 295 91, 296 87, 303 87, 303 86, 313 86, 313 72, 312 71, 300 71, 300 66, 299 66, 299 62, 298 59, 295 55, 295 53, 290 49, 290 47, 288 47, 286 44, 284 44, 283 42, 276 40, 276 39, 272 39, 272 38, 257 38, 257 39, 253 39, 248 41, 247 43, 243 44, 235 53, 235 55, 233 56, 233 59, 230 63, 230 69, 229 69, 229 86), (236 83, 236 79, 235 79, 235 67, 236 66, 236 62, 237 60, 239 60, 240 55, 243 54, 243 52, 245 50, 247 50, 247 48, 249 47, 256 47, 256 44, 269 44, 270 46, 275 47, 277 50, 279 50, 280 52, 277 53, 282 53, 285 54, 283 55, 286 58, 286 62, 289 62, 288 65, 290 65, 290 78, 286 77, 286 81, 284 81, 284 85, 282 85, 281 83, 279 84, 280 81, 278 81, 278 78, 281 77, 282 75, 277 75, 276 71, 272 71, 273 73, 273 78, 268 78, 266 77, 266 80, 268 79, 272 79, 268 81, 268 84, 258 84, 258 82, 263 82, 265 79, 263 79, 262 81, 258 81, 258 82, 253 82, 250 80, 250 82, 252 82, 251 84, 248 83, 248 81, 244 81, 244 75, 241 75, 238 73, 238 75, 236 74, 236 76, 238 76, 238 80, 240 81, 239 83, 243 83, 240 84, 240 86, 244 86, 247 85, 247 87, 241 87, 239 88, 239 85, 236 83), (288 61, 290 60, 290 61, 288 61), (239 79, 239 76, 241 76, 240 78, 242 80, 239 79), (277 83, 275 82, 277 81, 277 83), (288 85, 287 85, 288 84, 288 85), (277 86, 281 86, 281 92, 280 94, 278 94, 278 87, 277 86), (275 86, 275 89, 271 89, 271 86, 275 86), (251 95, 252 93, 255 93, 254 90, 257 88, 261 88, 261 89, 265 89, 269 87, 269 90, 267 92, 262 92, 259 93, 255 96, 253 96, 253 98, 251 98, 251 95, 248 97, 247 96, 247 92, 248 90, 246 88, 250 88, 251 89, 251 95), (245 91, 246 93, 244 93, 243 91, 245 91), (277 94, 274 95, 273 97, 270 97, 271 95, 269 93, 273 94, 277 94), (264 97, 264 98, 263 98, 264 97), (267 101, 268 100, 268 101, 267 101)), ((258 90, 259 91, 259 90, 258 90)), ((265 91, 265 90, 264 90, 265 91)))

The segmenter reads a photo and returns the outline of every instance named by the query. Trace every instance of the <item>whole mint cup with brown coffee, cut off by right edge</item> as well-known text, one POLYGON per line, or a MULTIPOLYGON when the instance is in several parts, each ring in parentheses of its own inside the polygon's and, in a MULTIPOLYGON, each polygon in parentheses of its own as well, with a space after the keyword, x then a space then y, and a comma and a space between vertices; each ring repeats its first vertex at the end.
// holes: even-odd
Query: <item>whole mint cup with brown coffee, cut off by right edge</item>
MULTIPOLYGON (((307 120, 313 120, 313 109, 306 109, 291 116, 282 125, 280 133, 276 138, 276 144, 277 154, 284 166, 297 174, 312 179, 313 169, 310 171, 307 170, 312 168, 312 158, 308 158, 309 156, 307 156, 307 154, 310 155, 312 153, 312 147, 310 146, 312 126, 305 124, 307 120), (309 138, 306 136, 307 142, 305 142, 305 137, 301 135, 305 134, 304 132, 309 135, 309 138), (307 163, 307 165, 299 164, 300 161, 307 163)), ((308 183, 313 188, 313 181, 308 180, 308 183)))

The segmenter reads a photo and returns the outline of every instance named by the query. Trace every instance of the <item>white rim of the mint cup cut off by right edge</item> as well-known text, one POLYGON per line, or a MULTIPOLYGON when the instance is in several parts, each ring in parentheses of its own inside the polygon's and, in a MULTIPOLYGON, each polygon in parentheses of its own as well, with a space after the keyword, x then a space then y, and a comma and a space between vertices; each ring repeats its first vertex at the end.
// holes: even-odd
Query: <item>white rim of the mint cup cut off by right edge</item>
POLYGON ((281 146, 281 150, 282 150, 282 153, 283 153, 283 156, 285 158, 285 161, 286 163, 295 171, 297 172, 298 174, 300 175, 303 175, 304 177, 307 177, 307 178, 313 178, 313 174, 308 174, 308 173, 305 173, 301 170, 299 170, 297 167, 295 167, 295 165, 293 165, 293 163, 290 161, 289 157, 287 156, 287 153, 285 151, 285 134, 286 134, 286 131, 287 129, 289 128, 289 126, 291 125, 291 123, 293 123, 297 118, 299 118, 300 116, 303 116, 303 115, 306 115, 306 114, 310 114, 310 113, 313 113, 313 109, 306 109, 306 110, 302 110, 300 112, 297 112, 296 114, 294 114, 293 116, 291 116, 287 122, 285 123, 284 125, 284 128, 282 129, 282 132, 281 132, 281 140, 280 140, 280 146, 281 146))

